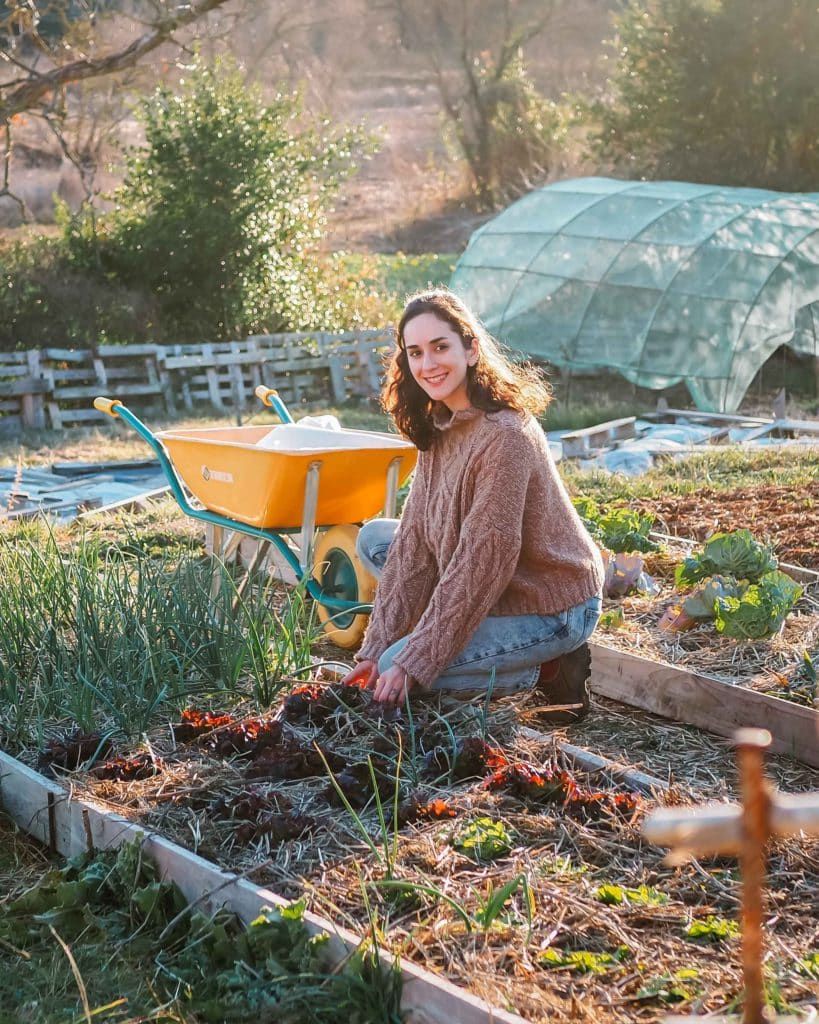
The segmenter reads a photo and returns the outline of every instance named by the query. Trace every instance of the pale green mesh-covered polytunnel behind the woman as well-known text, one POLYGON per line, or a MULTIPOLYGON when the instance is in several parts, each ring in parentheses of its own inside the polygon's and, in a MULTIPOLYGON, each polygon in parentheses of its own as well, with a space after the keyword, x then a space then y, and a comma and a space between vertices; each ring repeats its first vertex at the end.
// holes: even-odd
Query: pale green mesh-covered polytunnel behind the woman
POLYGON ((533 358, 732 412, 780 345, 819 356, 819 193, 558 181, 479 228, 451 288, 533 358))

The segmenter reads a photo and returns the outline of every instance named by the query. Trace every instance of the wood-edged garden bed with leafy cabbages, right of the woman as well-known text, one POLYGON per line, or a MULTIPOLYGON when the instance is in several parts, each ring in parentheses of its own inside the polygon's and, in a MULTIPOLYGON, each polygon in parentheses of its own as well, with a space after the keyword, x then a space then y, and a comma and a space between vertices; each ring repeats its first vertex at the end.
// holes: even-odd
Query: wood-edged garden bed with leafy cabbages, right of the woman
POLYGON ((819 767, 819 575, 747 529, 660 544, 649 515, 576 505, 607 568, 596 692, 724 736, 764 724, 819 767))

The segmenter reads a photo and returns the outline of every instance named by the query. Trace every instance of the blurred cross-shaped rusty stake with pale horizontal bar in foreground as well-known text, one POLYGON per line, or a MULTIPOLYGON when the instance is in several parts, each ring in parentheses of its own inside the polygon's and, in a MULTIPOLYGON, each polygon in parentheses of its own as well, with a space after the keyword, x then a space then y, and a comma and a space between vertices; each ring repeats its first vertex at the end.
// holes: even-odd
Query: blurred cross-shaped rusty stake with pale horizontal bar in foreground
MULTIPOLYGON (((766 845, 772 836, 819 836, 819 793, 788 796, 765 778, 763 759, 771 743, 767 729, 740 729, 735 735, 742 806, 709 804, 654 811, 643 835, 655 846, 671 846, 671 860, 735 854, 742 871, 742 974, 745 983, 742 1024, 771 1024, 763 984, 763 901, 766 845)), ((691 1018, 688 1018, 690 1020, 691 1018)), ((683 1021, 676 1017, 671 1021, 683 1021)), ((709 1018, 713 1021, 713 1018, 709 1018)))

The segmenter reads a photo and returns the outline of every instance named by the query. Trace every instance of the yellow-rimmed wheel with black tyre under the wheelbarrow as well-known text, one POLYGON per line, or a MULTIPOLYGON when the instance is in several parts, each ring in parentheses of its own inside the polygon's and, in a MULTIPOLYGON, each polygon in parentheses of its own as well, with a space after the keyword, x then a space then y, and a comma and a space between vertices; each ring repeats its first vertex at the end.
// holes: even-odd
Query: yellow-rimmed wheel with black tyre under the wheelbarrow
MULTIPOLYGON (((351 523, 331 526, 321 534, 313 553, 313 577, 330 597, 365 604, 373 600, 376 581, 355 553, 357 536, 358 526, 351 523)), ((368 617, 361 612, 338 611, 318 604, 318 621, 339 647, 355 647, 360 642, 368 617)))

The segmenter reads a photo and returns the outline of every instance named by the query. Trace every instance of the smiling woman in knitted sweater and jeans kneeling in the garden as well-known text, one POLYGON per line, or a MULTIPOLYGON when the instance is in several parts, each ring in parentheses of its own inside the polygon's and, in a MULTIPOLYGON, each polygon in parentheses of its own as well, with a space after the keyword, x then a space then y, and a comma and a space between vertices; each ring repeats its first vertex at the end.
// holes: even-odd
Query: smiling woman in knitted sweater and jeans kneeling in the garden
POLYGON ((502 696, 538 687, 553 722, 589 710, 603 566, 534 417, 532 367, 509 361, 454 294, 413 297, 382 394, 420 450, 400 520, 358 554, 379 579, 357 667, 376 700, 420 691, 502 696))

